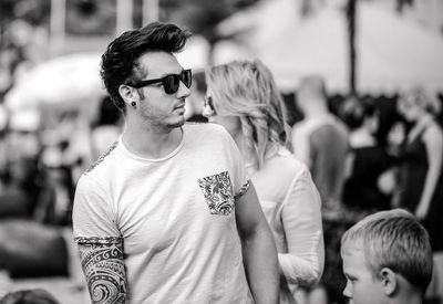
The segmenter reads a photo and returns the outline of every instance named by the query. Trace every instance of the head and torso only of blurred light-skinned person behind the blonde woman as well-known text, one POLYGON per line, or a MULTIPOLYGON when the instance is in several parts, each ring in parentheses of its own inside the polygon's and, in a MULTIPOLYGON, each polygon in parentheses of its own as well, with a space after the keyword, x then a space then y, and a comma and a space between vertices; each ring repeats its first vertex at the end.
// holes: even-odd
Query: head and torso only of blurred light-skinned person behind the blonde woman
POLYGON ((339 210, 349 150, 348 129, 328 109, 323 80, 308 76, 297 91, 305 119, 292 128, 295 154, 310 168, 319 189, 323 216, 339 210))

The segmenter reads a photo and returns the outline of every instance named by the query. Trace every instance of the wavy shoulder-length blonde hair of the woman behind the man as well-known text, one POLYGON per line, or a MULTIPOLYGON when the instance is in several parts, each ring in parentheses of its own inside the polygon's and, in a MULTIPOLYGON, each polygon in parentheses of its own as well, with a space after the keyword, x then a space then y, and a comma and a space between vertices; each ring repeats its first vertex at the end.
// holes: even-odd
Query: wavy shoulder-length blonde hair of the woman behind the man
POLYGON ((257 168, 279 145, 291 150, 287 109, 264 63, 234 61, 213 66, 206 82, 217 115, 240 118, 247 153, 257 168))

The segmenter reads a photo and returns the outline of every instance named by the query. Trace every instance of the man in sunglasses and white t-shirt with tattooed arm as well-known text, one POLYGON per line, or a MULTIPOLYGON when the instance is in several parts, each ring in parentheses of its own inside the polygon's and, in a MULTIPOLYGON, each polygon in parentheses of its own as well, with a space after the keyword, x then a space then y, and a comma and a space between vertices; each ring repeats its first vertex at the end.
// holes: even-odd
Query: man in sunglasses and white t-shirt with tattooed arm
POLYGON ((184 124, 192 73, 174 53, 187 36, 155 22, 102 56, 126 126, 75 193, 93 303, 278 301, 276 248, 234 140, 223 127, 184 124))

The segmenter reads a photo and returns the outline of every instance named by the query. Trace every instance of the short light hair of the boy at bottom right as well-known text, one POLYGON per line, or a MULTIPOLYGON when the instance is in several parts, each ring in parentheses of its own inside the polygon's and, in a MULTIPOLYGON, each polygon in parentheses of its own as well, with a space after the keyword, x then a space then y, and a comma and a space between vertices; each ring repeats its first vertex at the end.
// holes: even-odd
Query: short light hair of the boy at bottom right
POLYGON ((378 277, 383 268, 401 274, 424 292, 432 277, 432 250, 426 230, 403 209, 370 214, 341 238, 341 254, 362 249, 378 277))

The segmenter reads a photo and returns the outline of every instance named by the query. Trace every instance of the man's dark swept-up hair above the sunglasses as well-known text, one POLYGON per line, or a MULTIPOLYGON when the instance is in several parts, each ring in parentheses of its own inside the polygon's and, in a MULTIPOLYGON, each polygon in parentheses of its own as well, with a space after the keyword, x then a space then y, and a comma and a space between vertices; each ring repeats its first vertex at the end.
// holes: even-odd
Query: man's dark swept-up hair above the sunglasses
POLYGON ((144 28, 126 31, 110 43, 102 55, 100 74, 115 106, 124 112, 119 87, 143 78, 138 57, 147 52, 177 53, 185 46, 190 32, 173 23, 152 22, 144 28))

